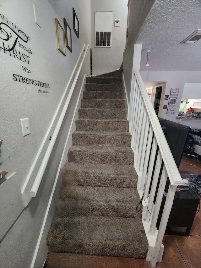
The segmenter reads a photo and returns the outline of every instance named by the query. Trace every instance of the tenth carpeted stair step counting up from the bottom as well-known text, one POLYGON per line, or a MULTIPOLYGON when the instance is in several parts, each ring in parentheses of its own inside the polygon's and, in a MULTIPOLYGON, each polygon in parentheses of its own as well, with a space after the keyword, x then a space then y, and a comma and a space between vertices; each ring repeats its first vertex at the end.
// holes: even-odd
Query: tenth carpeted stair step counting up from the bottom
POLYGON ((122 84, 85 84, 85 90, 92 91, 122 91, 122 84))

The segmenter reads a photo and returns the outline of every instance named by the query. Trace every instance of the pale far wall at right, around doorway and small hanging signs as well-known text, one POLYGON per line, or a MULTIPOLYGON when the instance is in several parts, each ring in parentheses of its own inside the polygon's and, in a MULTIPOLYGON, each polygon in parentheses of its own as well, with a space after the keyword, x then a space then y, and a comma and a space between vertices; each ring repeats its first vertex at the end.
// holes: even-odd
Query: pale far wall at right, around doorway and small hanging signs
MULTIPOLYGON (((179 95, 177 96, 177 106, 175 114, 166 114, 167 110, 162 109, 161 117, 167 120, 177 122, 176 117, 179 113, 180 101, 184 90, 185 83, 200 83, 201 75, 199 71, 140 71, 143 81, 164 81, 166 83, 166 89, 163 96, 161 96, 162 107, 164 104, 168 104, 168 100, 164 100, 164 95, 170 96, 170 90, 172 87, 179 87, 179 95)), ((189 92, 189 98, 193 96, 192 92, 189 92)), ((185 121, 186 122, 186 121, 185 121)), ((183 124, 185 124, 183 122, 183 124)), ((200 124, 200 122, 198 122, 200 124)))

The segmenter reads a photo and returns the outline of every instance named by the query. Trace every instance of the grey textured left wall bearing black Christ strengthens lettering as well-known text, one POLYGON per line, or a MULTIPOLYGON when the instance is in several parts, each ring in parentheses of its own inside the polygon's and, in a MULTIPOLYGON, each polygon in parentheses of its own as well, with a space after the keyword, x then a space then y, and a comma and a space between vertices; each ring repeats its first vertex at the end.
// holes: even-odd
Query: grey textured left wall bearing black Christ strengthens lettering
MULTIPOLYGON (((9 173, 16 171, 22 188, 82 47, 84 43, 90 44, 90 1, 1 1, 1 14, 30 37, 26 47, 32 51, 30 55, 25 53, 30 56, 30 64, 0 52, 1 167, 9 173), (41 28, 35 24, 33 3, 40 12, 41 28), (79 39, 73 31, 73 7, 79 19, 79 39), (56 17, 63 27, 65 17, 71 27, 73 52, 66 48, 66 56, 57 49, 56 17), (31 74, 24 72, 22 66, 31 74), (50 84, 50 93, 37 93, 39 87, 14 81, 13 74, 50 84), (20 118, 26 117, 30 120, 31 134, 23 137, 20 118)), ((25 52, 18 42, 16 49, 25 52)), ((30 267, 84 73, 90 75, 90 53, 87 53, 37 196, 1 240, 1 267, 30 267)), ((51 211, 53 213, 54 209, 51 211)), ((50 223, 51 215, 48 221, 50 223)), ((44 250, 47 249, 41 249, 44 250)), ((43 262, 44 255, 38 267, 42 267, 43 262)))

